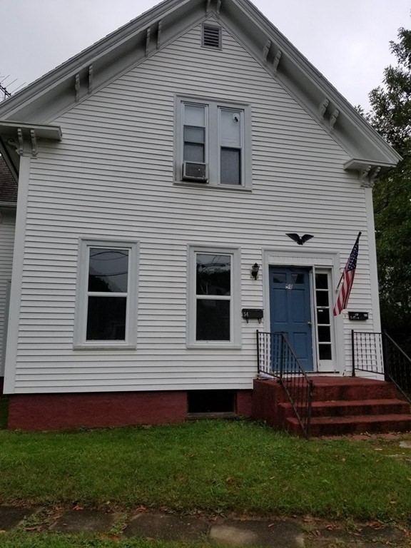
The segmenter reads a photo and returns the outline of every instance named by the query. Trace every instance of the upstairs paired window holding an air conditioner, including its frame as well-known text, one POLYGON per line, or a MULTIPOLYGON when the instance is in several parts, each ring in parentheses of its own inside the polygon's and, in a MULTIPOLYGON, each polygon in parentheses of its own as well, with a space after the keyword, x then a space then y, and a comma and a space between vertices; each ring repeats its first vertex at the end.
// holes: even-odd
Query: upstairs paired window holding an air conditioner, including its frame
POLYGON ((176 181, 250 188, 250 107, 178 100, 176 181))

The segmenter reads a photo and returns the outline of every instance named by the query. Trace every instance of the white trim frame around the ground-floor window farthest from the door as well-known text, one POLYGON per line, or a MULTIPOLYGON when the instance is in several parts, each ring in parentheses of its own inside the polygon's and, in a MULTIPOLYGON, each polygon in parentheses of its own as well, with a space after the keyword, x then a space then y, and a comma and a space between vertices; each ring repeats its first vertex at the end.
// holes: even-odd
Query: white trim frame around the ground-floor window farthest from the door
POLYGON ((132 350, 137 342, 137 295, 138 295, 138 243, 129 240, 100 240, 79 238, 76 284, 76 310, 74 316, 75 350, 132 350), (87 293, 88 293, 88 250, 90 248, 127 249, 128 253, 128 292, 126 308, 125 340, 86 340, 87 293))

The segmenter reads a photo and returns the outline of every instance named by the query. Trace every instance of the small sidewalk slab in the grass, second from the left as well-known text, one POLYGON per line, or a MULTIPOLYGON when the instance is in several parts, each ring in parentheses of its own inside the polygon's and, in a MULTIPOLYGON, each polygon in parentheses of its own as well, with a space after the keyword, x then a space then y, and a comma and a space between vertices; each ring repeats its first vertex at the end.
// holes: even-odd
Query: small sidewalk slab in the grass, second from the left
POLYGON ((116 514, 107 514, 100 510, 65 510, 50 529, 65 533, 108 532, 116 520, 116 514))

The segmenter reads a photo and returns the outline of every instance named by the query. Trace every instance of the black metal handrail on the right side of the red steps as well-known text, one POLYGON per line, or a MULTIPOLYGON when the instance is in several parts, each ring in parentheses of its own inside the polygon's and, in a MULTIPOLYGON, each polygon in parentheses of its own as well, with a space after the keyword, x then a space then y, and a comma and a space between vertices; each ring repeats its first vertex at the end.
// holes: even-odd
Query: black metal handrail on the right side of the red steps
POLYGON ((411 403, 411 358, 388 333, 351 332, 352 376, 356 371, 384 375, 411 403))

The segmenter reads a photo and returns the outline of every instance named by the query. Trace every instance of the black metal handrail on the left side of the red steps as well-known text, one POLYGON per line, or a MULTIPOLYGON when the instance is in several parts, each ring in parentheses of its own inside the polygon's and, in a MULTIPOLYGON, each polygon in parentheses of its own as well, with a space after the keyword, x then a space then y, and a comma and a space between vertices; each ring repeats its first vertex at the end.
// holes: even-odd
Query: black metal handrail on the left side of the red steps
POLYGON ((258 373, 278 379, 284 387, 305 437, 310 436, 313 381, 303 370, 284 333, 257 330, 258 373))

